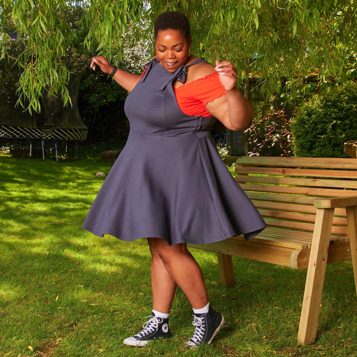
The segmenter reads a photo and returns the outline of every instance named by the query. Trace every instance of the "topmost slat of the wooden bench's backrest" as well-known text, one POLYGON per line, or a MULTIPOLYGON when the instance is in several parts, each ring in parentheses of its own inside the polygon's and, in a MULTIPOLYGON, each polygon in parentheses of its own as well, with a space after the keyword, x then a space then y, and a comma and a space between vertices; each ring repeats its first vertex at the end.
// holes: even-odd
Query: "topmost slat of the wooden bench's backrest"
POLYGON ((237 164, 259 166, 322 167, 325 169, 357 169, 357 159, 325 157, 260 157, 242 156, 237 164))

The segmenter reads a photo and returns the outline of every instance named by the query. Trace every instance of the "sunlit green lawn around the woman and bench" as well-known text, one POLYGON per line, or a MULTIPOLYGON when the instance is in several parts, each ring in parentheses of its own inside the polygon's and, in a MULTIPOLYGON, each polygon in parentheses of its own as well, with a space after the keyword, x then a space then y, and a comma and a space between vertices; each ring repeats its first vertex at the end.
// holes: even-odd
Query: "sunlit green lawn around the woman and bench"
POLYGON ((95 173, 110 167, 96 157, 56 163, 0 156, 0 357, 357 355, 351 261, 327 266, 319 336, 303 347, 296 336, 306 270, 233 257, 236 284, 223 287, 217 256, 193 249, 226 326, 212 345, 187 350, 192 310, 178 289, 172 338, 124 346, 151 312, 146 240, 81 229, 103 181, 95 173))

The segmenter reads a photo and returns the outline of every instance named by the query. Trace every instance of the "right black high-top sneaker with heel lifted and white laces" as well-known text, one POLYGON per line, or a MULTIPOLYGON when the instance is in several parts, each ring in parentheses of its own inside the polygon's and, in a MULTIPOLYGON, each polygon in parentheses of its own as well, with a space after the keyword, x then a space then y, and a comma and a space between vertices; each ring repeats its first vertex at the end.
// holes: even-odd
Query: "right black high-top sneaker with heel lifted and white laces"
POLYGON ((200 343, 207 343, 209 345, 225 323, 223 315, 213 310, 211 306, 208 312, 202 314, 195 313, 192 316, 195 317, 192 325, 196 326, 196 329, 193 336, 185 342, 191 349, 198 347, 200 343))

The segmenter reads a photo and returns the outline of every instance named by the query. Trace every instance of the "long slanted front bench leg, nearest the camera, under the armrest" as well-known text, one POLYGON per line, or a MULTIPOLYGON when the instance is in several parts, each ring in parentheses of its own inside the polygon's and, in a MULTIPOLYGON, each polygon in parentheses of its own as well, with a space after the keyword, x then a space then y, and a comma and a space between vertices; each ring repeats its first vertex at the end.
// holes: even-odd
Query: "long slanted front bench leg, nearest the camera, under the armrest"
POLYGON ((315 342, 335 208, 317 208, 298 332, 298 342, 315 342))

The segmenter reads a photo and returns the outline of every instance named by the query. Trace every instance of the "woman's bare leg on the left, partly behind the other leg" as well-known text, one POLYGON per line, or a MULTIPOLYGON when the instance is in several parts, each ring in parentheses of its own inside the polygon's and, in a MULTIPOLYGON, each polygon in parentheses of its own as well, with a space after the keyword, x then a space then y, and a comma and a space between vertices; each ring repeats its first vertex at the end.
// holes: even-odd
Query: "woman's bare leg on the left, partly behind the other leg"
MULTIPOLYGON (((162 313, 170 313, 177 284, 167 272, 164 263, 155 250, 154 238, 147 238, 151 259, 152 308, 162 313)), ((157 238, 155 238, 157 239, 157 238)))

